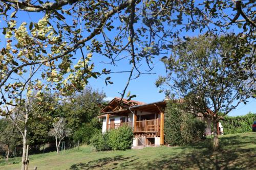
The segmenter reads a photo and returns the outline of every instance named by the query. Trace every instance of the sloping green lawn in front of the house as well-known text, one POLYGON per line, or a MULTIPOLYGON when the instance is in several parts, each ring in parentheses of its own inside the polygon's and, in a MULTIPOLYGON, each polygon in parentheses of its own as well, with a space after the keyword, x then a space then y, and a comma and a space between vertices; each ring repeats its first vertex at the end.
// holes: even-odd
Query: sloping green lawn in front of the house
MULTIPOLYGON (((208 149, 210 139, 186 147, 95 152, 90 146, 30 156, 29 169, 255 169, 256 133, 220 137, 220 151, 208 149)), ((11 162, 11 160, 10 160, 11 162)), ((20 169, 20 163, 0 169, 20 169)))

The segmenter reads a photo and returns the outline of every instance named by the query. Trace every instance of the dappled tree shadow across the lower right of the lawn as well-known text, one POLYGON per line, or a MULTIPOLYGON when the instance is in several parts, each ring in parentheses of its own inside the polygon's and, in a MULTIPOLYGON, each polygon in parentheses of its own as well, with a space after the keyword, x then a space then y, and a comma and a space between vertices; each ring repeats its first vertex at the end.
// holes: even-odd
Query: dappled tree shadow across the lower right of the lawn
POLYGON ((205 140, 187 147, 172 148, 169 154, 162 154, 159 157, 105 157, 88 163, 73 164, 70 169, 254 169, 254 140, 254 137, 249 136, 223 137, 220 139, 221 147, 217 152, 208 150, 205 140))

